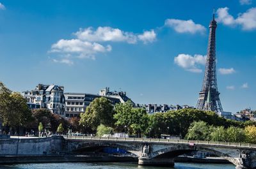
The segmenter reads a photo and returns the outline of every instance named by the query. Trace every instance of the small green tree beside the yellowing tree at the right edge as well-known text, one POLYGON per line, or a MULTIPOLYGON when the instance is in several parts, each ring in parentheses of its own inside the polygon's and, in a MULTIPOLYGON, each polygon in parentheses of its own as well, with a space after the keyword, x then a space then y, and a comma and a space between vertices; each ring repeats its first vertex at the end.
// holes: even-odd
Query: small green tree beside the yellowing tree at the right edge
POLYGON ((231 126, 227 129, 227 141, 228 142, 245 142, 246 135, 244 129, 231 126))

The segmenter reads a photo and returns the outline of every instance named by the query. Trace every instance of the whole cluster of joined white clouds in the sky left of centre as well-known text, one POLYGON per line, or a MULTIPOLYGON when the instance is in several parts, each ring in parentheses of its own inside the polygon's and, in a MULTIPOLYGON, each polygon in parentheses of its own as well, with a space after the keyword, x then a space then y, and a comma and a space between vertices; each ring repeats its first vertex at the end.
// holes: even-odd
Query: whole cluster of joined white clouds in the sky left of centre
POLYGON ((111 45, 104 45, 107 42, 150 43, 156 40, 154 30, 144 31, 142 34, 125 32, 112 27, 87 27, 73 33, 76 38, 71 40, 61 39, 51 46, 49 53, 57 53, 62 59, 54 59, 54 62, 74 64, 74 58, 95 59, 99 53, 106 53, 112 50, 111 45), (102 44, 101 44, 102 43, 102 44), (68 58, 68 59, 67 59, 68 58))

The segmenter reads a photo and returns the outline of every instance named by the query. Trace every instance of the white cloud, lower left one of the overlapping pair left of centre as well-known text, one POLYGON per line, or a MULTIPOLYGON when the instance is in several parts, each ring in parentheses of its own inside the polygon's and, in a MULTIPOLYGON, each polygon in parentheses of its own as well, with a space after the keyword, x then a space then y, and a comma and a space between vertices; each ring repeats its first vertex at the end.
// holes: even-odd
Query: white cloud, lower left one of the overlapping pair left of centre
POLYGON ((104 53, 111 51, 111 46, 103 46, 99 43, 90 42, 90 41, 81 41, 77 39, 72 40, 59 40, 57 43, 54 43, 51 47, 50 52, 67 54, 67 55, 76 55, 79 58, 95 58, 95 54, 104 53))

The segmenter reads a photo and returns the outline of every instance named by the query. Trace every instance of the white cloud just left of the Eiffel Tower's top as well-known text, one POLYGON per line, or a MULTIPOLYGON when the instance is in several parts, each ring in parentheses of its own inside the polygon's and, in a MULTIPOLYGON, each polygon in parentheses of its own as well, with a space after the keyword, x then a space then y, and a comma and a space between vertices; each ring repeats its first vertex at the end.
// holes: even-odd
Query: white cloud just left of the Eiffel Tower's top
POLYGON ((178 33, 205 33, 205 27, 200 24, 195 24, 193 20, 179 20, 168 18, 164 22, 165 26, 172 27, 178 33))

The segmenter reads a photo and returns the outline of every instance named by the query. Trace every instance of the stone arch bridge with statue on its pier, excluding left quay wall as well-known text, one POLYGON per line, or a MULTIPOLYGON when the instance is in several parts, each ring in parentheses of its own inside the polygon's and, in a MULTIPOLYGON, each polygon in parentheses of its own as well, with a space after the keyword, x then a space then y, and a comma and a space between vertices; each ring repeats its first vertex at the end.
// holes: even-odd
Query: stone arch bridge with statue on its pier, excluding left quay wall
POLYGON ((236 168, 256 168, 256 145, 250 143, 167 140, 150 138, 66 137, 68 152, 116 147, 138 156, 139 165, 173 166, 174 158, 192 151, 211 152, 236 168))

